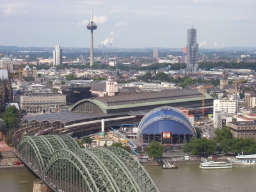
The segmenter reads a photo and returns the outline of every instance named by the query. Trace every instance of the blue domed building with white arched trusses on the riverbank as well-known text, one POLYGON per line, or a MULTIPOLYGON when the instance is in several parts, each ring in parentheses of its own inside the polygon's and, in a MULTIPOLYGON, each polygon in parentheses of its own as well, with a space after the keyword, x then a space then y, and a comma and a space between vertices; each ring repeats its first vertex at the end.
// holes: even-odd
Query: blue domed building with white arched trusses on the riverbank
POLYGON ((183 111, 170 106, 149 111, 138 126, 140 143, 159 141, 163 145, 180 145, 196 138, 196 130, 183 111))

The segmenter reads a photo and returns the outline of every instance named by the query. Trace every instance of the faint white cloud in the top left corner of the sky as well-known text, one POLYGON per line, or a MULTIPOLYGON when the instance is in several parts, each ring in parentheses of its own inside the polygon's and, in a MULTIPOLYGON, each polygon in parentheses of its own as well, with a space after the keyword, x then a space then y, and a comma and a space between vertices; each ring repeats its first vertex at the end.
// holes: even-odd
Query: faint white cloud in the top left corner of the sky
POLYGON ((25 3, 10 3, 2 4, 1 9, 3 10, 4 17, 24 15, 28 13, 26 8, 28 4, 25 3))

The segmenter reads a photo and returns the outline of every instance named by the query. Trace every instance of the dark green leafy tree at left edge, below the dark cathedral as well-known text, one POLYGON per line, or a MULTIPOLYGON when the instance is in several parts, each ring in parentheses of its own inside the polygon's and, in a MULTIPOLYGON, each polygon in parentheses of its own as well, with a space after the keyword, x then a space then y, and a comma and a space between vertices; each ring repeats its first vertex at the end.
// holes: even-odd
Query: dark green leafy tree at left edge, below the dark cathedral
POLYGON ((13 125, 16 125, 18 122, 18 118, 20 117, 19 109, 17 109, 15 106, 9 106, 4 113, 0 115, 0 118, 2 118, 6 124, 6 127, 12 127, 13 125))

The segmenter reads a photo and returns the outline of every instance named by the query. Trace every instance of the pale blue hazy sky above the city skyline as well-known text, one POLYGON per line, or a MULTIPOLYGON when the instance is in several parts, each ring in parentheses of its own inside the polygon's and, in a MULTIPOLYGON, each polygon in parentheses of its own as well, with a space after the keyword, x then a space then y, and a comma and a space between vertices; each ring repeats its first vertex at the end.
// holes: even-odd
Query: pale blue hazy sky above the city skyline
POLYGON ((94 46, 256 47, 255 0, 0 0, 0 45, 89 48, 91 4, 94 46))

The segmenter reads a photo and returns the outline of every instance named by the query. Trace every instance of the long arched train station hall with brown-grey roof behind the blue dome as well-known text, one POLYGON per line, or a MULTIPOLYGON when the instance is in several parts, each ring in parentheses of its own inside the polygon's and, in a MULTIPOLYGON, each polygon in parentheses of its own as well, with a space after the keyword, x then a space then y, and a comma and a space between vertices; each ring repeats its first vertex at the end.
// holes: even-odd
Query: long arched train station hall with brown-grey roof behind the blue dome
MULTIPOLYGON (((205 93, 205 106, 212 106, 214 98, 205 93)), ((164 92, 134 93, 83 99, 69 110, 84 113, 124 113, 129 111, 150 111, 161 106, 202 107, 202 92, 198 90, 166 90, 164 92)))

